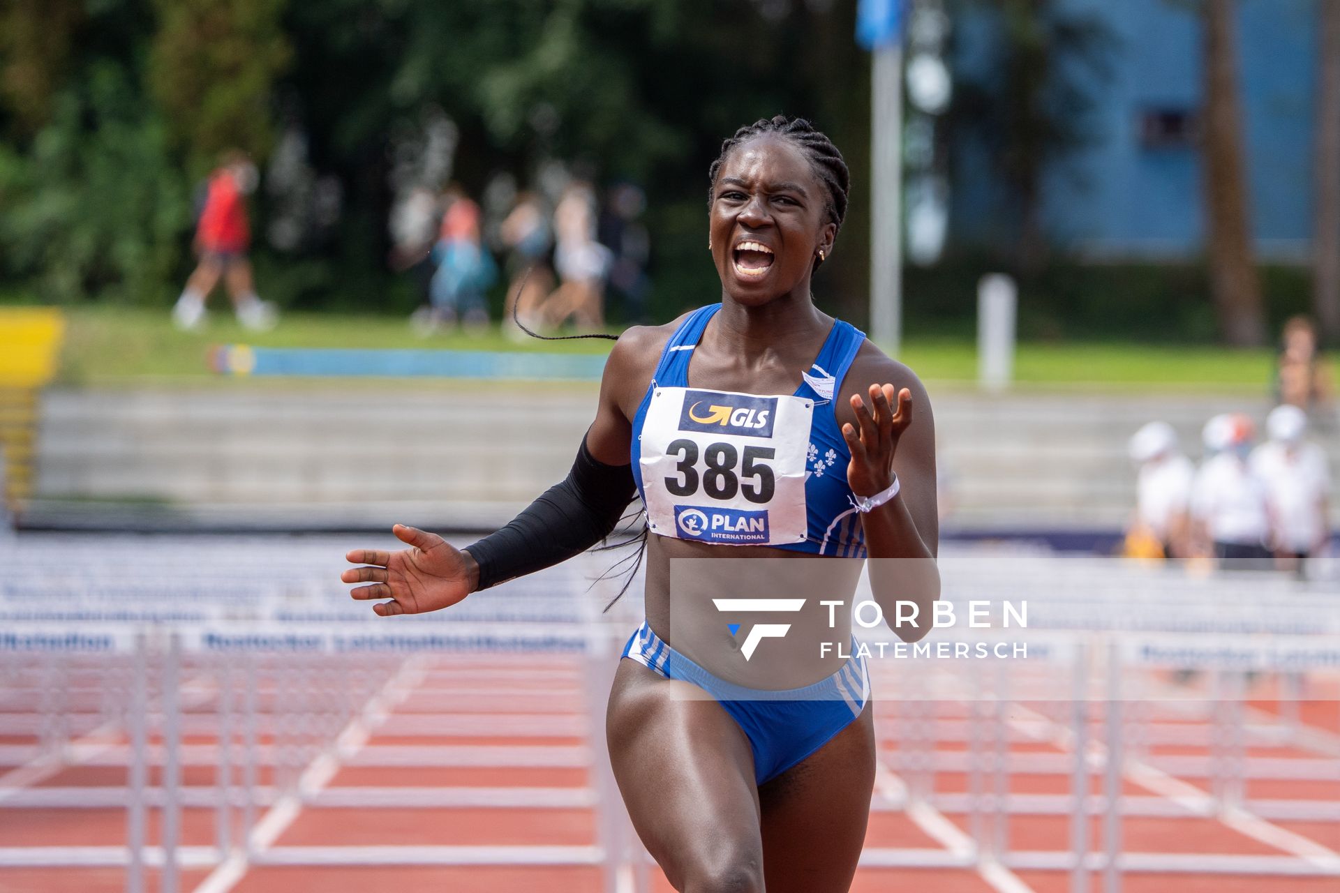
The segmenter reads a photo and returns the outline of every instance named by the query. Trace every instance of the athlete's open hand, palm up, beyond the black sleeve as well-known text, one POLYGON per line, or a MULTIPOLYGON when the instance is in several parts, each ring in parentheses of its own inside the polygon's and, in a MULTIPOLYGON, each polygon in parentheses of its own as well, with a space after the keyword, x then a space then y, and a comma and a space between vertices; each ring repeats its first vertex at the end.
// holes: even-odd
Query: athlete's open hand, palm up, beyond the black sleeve
POLYGON ((350 590, 354 598, 390 598, 373 605, 382 617, 419 615, 450 608, 470 594, 478 570, 469 553, 453 549, 442 537, 402 523, 391 527, 411 548, 401 552, 352 549, 347 561, 370 565, 350 568, 339 576, 343 582, 371 582, 350 590))

